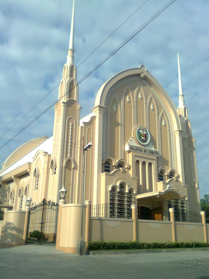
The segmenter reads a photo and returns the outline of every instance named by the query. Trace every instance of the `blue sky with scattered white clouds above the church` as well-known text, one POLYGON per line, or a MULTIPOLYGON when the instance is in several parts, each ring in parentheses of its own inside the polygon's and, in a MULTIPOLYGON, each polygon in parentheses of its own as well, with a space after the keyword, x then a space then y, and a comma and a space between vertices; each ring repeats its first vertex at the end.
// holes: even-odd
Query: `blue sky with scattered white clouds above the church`
MULTIPOLYGON (((89 56, 146 0, 76 0, 75 65, 89 56)), ((77 69, 79 81, 168 0, 149 0, 77 69)), ((58 96, 66 62, 73 0, 1 2, 1 145, 58 96), (55 88, 55 90, 53 90, 55 88), (53 90, 26 117, 34 105, 53 90), (6 133, 7 132, 7 133, 6 133), (5 134, 6 133, 6 134, 5 134), (5 135, 4 135, 5 134, 5 135)), ((178 106, 177 52, 185 105, 196 139, 200 196, 208 193, 208 0, 176 0, 79 85, 81 116, 91 112, 100 86, 127 68, 144 64, 178 106)), ((24 142, 53 133, 53 107, 10 141, 1 163, 24 142)))

